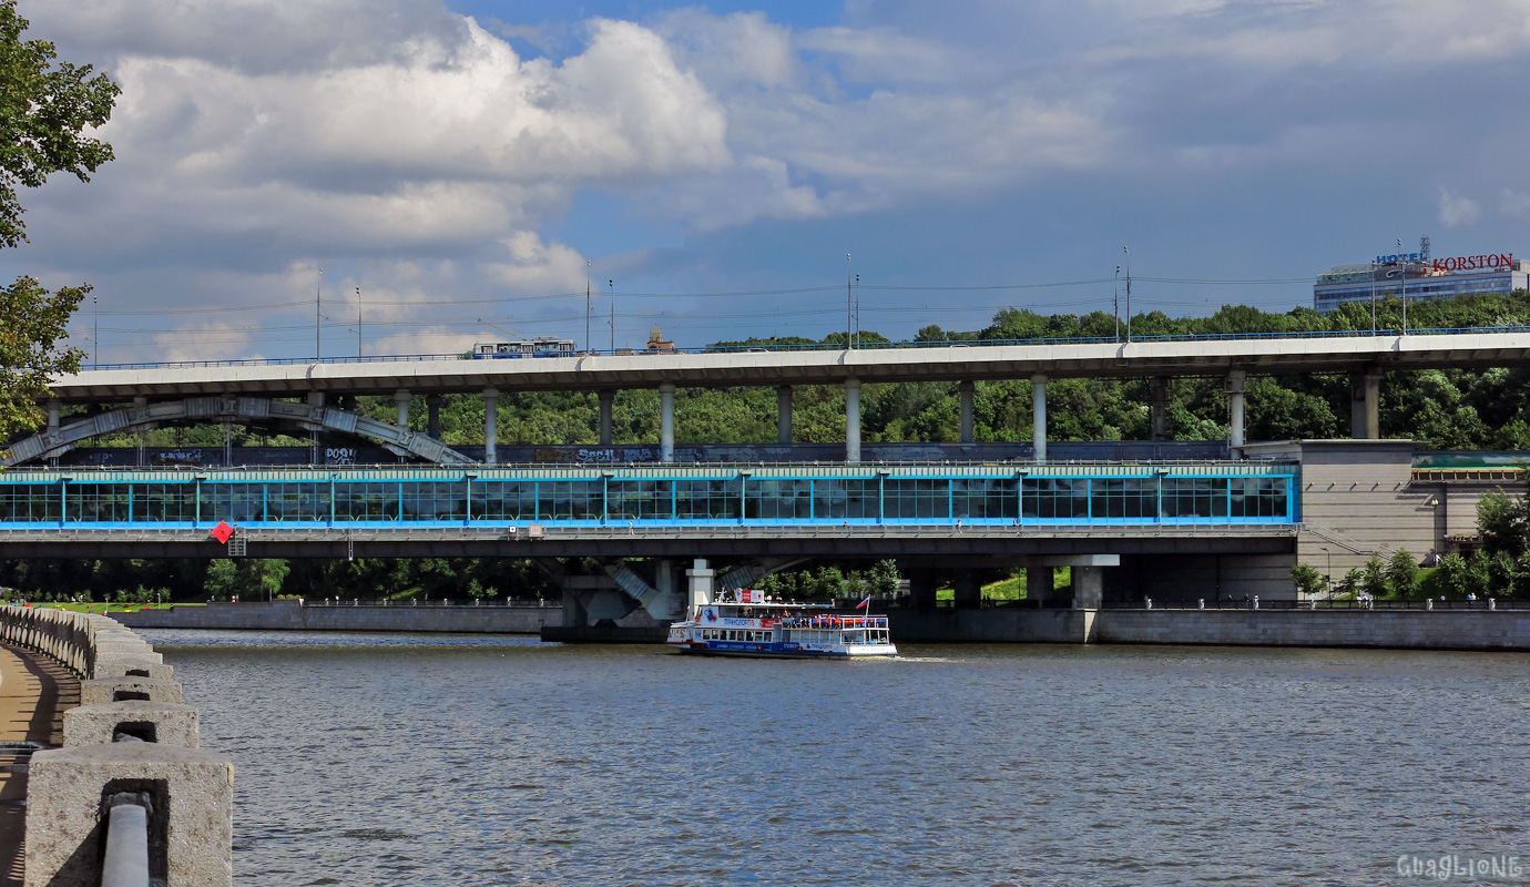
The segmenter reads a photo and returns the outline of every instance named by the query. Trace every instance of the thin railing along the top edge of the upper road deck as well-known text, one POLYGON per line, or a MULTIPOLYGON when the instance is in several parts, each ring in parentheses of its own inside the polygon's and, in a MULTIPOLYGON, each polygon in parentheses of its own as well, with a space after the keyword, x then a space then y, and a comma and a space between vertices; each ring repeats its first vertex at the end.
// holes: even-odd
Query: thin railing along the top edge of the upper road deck
MULTIPOLYGON (((962 347, 994 347, 994 346, 1079 346, 1079 344, 1152 344, 1152 343, 1216 343, 1216 341, 1267 341, 1267 340, 1343 340, 1372 338, 1398 335, 1466 335, 1466 333, 1522 333, 1530 332, 1527 326, 1483 326, 1483 327, 1426 327, 1426 329, 1377 329, 1377 330, 1291 330, 1291 332, 1253 332, 1253 333, 1175 333, 1175 335, 1134 335, 1131 343, 1118 336, 1037 336, 1013 340, 939 340, 939 341, 898 341, 898 343, 858 343, 854 350, 887 350, 887 349, 962 349, 962 347)), ((840 343, 802 343, 802 344, 753 344, 753 346, 702 346, 690 349, 666 349, 662 352, 635 352, 632 349, 617 350, 586 350, 574 355, 583 356, 666 356, 666 355, 718 355, 718 353, 782 353, 782 352, 843 352, 840 343)), ((410 361, 461 361, 461 359, 522 359, 540 361, 555 359, 560 355, 499 355, 491 358, 476 358, 473 355, 372 355, 372 356, 334 356, 334 358, 262 358, 262 359, 223 359, 223 361, 138 361, 125 364, 86 364, 84 370, 156 370, 156 369, 196 369, 196 367, 278 367, 278 366, 309 366, 309 364, 387 364, 410 361)), ((569 359, 563 356, 563 359, 569 359)))

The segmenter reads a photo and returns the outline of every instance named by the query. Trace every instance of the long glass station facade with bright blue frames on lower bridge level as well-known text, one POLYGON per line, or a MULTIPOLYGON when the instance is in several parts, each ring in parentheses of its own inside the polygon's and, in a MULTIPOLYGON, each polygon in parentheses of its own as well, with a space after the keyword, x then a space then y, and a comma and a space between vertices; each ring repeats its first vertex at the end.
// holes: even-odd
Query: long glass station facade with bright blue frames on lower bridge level
POLYGON ((0 528, 1294 523, 1296 466, 11 471, 0 528))

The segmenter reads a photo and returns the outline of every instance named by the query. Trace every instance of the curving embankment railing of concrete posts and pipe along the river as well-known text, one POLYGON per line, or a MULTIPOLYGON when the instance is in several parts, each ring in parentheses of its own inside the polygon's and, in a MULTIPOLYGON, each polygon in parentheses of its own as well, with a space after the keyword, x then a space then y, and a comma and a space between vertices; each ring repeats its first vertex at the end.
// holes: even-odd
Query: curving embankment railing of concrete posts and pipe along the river
POLYGON ((26 887, 141 884, 144 873, 231 887, 234 768, 197 748, 197 710, 181 703, 164 658, 115 619, 43 607, 0 607, 0 639, 81 679, 64 748, 28 768, 26 887))

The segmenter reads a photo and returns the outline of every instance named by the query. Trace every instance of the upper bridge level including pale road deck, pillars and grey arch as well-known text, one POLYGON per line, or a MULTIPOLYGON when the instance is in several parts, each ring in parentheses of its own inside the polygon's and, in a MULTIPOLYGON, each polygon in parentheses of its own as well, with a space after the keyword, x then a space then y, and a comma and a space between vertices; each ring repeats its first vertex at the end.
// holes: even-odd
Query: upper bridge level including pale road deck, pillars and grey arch
MULTIPOLYGON (((378 440, 389 453, 435 463, 500 462, 497 399, 502 392, 597 392, 600 444, 612 445, 612 399, 623 388, 658 388, 659 460, 675 460, 675 392, 682 387, 773 385, 777 444, 791 444, 793 385, 845 387, 843 460, 861 462, 860 388, 871 382, 952 382, 961 404, 961 442, 973 442, 973 382, 1028 379, 1033 385, 1031 456, 1047 460, 1047 384, 1056 378, 1148 378, 1154 436, 1166 428, 1167 379, 1224 376, 1229 448, 1244 447, 1244 382, 1250 373, 1351 373, 1353 434, 1379 436, 1380 379, 1386 370, 1521 366, 1530 330, 1412 330, 1408 335, 1175 336, 1146 341, 900 343, 855 350, 707 350, 702 353, 589 353, 568 358, 465 359, 461 355, 326 361, 213 361, 96 367, 54 384, 47 428, 11 445, 6 465, 57 459, 110 433, 184 422, 275 422, 309 433, 378 440), (393 424, 337 408, 335 395, 389 395, 393 424), (433 396, 480 393, 480 454, 439 440, 433 396), (410 404, 424 395, 431 421, 412 431, 410 404), (297 401, 294 401, 297 398, 297 401), (66 404, 110 405, 63 422, 66 404)), ((317 462, 317 459, 315 459, 317 462)))

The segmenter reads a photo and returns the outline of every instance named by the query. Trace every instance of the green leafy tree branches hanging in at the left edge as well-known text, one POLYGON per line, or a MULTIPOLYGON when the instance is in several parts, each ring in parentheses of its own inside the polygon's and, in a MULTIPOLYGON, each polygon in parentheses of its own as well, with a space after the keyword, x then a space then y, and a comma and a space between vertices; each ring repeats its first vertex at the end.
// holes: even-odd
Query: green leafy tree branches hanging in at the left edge
MULTIPOLYGON (((87 130, 106 124, 121 93, 89 64, 55 64, 52 43, 21 38, 26 26, 15 0, 0 0, 0 246, 26 240, 17 188, 37 188, 52 173, 89 182, 112 159, 112 145, 87 130)), ((58 343, 89 289, 50 294, 20 277, 0 291, 0 439, 41 425, 37 399, 49 379, 80 369, 81 352, 58 343)))

